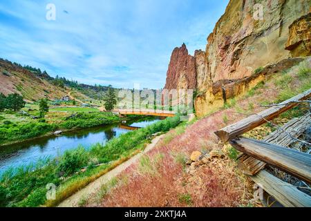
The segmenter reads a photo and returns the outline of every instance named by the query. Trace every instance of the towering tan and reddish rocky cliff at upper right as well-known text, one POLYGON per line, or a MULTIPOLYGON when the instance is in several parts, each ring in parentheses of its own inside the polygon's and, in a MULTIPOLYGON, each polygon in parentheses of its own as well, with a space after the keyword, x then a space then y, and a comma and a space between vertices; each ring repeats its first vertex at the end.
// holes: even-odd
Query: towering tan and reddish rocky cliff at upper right
POLYGON ((196 51, 194 57, 187 52, 191 62, 176 56, 185 54, 185 46, 173 51, 165 86, 189 88, 190 82, 191 87, 196 86, 195 107, 200 116, 210 106, 223 105, 224 95, 238 95, 256 85, 260 78, 252 75, 262 67, 311 55, 310 1, 231 0, 207 42, 206 50, 196 51), (235 82, 241 85, 229 86, 238 84, 235 82), (230 91, 241 87, 243 90, 230 91))

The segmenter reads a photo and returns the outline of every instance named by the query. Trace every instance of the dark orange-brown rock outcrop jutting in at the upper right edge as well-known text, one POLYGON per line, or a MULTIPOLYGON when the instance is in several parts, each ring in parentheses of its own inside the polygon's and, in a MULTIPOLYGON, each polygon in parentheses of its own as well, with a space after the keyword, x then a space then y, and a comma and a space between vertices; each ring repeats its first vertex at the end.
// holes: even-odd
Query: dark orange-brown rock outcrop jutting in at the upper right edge
POLYGON ((311 13, 294 21, 290 27, 286 50, 292 57, 311 55, 311 13))

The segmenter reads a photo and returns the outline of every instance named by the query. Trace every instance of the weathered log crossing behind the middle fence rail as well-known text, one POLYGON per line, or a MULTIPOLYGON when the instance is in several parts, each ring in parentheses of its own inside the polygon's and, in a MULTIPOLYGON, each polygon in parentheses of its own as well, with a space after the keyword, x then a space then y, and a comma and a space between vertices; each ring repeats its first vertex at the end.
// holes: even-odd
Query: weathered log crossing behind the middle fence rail
MULTIPOLYGON (((290 122, 282 126, 281 129, 267 135, 263 141, 279 146, 290 146, 290 144, 296 142, 294 139, 299 137, 311 124, 310 114, 306 114, 300 118, 294 118, 290 122), (285 131, 285 132, 284 132, 285 131), (289 135, 289 134, 290 135, 289 135)), ((238 157, 238 167, 247 175, 255 175, 258 171, 261 171, 265 167, 266 163, 256 158, 243 154, 238 157)))

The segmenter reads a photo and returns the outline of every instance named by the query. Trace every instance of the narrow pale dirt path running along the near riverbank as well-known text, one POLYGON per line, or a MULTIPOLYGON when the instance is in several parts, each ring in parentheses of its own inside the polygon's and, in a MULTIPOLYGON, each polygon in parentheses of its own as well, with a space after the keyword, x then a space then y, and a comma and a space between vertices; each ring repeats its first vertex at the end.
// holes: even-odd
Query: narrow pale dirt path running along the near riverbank
POLYGON ((77 206, 77 203, 81 198, 86 198, 88 195, 91 195, 93 193, 96 193, 100 187, 103 184, 106 184, 111 180, 113 177, 119 175, 124 171, 126 168, 131 166, 131 164, 135 163, 144 153, 147 153, 150 151, 153 147, 156 146, 156 144, 159 142, 159 140, 163 137, 164 135, 160 135, 156 138, 154 138, 151 142, 151 144, 148 144, 147 147, 142 151, 141 153, 138 153, 137 155, 131 157, 128 161, 124 162, 123 164, 120 164, 119 166, 115 167, 115 169, 109 171, 108 173, 102 175, 100 178, 95 180, 94 182, 91 182, 91 184, 88 184, 84 189, 78 191, 74 195, 70 196, 70 198, 67 198, 63 202, 61 202, 58 207, 73 207, 77 206))

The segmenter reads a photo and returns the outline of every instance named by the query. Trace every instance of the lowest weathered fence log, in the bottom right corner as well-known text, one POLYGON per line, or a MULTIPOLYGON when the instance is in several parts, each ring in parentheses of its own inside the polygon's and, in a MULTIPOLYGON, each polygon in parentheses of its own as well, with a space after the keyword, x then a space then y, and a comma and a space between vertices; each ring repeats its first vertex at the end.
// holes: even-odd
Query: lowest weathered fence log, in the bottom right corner
POLYGON ((287 207, 310 207, 311 197, 292 184, 283 182, 267 171, 260 171, 251 179, 261 186, 267 193, 272 195, 283 206, 287 207))

